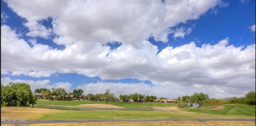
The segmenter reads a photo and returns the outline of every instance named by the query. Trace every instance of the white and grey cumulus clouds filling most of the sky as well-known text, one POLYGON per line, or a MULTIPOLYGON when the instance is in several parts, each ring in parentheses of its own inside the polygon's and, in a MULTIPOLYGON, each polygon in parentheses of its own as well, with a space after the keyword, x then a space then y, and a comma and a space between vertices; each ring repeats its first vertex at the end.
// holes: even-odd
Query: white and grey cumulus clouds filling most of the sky
MULTIPOLYGON (((204 44, 198 47, 192 41, 178 47, 165 47, 158 53, 158 47, 147 41, 153 37, 156 41, 167 42, 170 34, 185 37, 193 32, 192 27, 178 27, 178 24, 186 24, 216 6, 224 6, 220 0, 4 2, 26 20, 23 22, 28 28, 25 35, 33 39, 26 41, 11 26, 1 26, 3 75, 40 78, 56 73, 77 73, 103 80, 149 80, 151 85, 98 82, 78 84, 78 87, 85 93, 104 93, 105 87, 109 87, 116 95, 142 93, 169 98, 200 91, 214 98, 244 96, 241 91, 255 89, 255 44, 235 47, 226 37, 214 45, 201 41, 204 44), (49 18, 52 28, 42 24, 49 18), (40 44, 36 37, 63 45, 64 49, 40 44), (122 45, 110 49, 106 43, 113 41, 122 45)), ((255 32, 255 25, 250 26, 250 30, 255 32)), ((1 77, 1 83, 6 80, 17 81, 1 77)), ((68 92, 74 85, 49 84, 48 80, 29 83, 32 89, 42 83, 39 87, 64 87, 68 92)))

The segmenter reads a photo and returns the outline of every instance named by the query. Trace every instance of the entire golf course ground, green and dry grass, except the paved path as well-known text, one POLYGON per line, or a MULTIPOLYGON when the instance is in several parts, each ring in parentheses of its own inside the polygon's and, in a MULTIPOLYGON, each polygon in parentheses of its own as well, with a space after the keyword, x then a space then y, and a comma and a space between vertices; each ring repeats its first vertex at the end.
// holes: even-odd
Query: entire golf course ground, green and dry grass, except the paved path
MULTIPOLYGON (((126 119, 185 119, 180 121, 135 121, 135 122, 86 122, 86 123, 54 123, 31 124, 29 126, 255 126, 255 121, 198 121, 194 119, 212 118, 251 118, 255 119, 255 106, 244 104, 206 106, 202 108, 178 109, 176 104, 162 103, 128 103, 128 102, 93 102, 93 101, 40 101, 50 105, 51 109, 31 107, 1 107, 2 118, 26 118, 27 120, 126 120, 126 119), (60 104, 57 104, 60 103, 60 104), (88 104, 87 104, 88 103, 88 104), (58 106, 56 106, 58 105, 58 106), (58 107, 71 106, 69 110, 56 110, 58 107), (110 110, 72 110, 73 107, 110 108, 110 110), (132 110, 131 108, 150 110, 132 110), (54 109, 56 108, 56 109, 54 109), (115 110, 112 108, 116 108, 115 110), (120 109, 120 110, 119 110, 120 109), (129 110, 126 110, 129 109, 129 110), (162 109, 165 111, 152 111, 162 109), (168 111, 170 110, 170 111, 168 111), (171 110, 176 110, 171 111, 171 110), (193 118, 194 121, 191 119, 193 118), (189 119, 189 120, 186 120, 189 119)), ((4 125, 1 125, 4 126, 4 125)), ((6 125, 8 126, 8 125, 6 125)), ((24 125, 25 126, 25 125, 24 125)), ((26 125, 28 126, 28 125, 26 125)))

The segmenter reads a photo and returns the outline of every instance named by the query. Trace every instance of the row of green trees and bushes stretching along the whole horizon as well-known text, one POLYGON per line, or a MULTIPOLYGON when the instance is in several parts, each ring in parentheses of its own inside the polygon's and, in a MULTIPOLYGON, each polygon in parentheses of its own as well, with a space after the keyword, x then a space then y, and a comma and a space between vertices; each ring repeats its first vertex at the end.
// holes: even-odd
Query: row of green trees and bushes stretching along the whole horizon
MULTIPOLYGON (((106 104, 108 101, 118 101, 119 99, 123 102, 129 102, 130 99, 134 100, 134 102, 156 102, 156 96, 145 96, 142 94, 134 93, 130 95, 119 95, 119 99, 116 98, 114 93, 111 93, 109 89, 105 90, 104 94, 96 94, 93 95, 89 93, 87 95, 88 100, 106 100, 106 104)), ((56 100, 73 100, 71 99, 71 95, 75 100, 79 100, 82 97, 82 93, 84 91, 82 89, 74 89, 72 92, 67 93, 64 88, 40 88, 34 90, 34 93, 40 93, 43 99, 53 100, 52 96, 56 96, 56 100), (65 99, 65 98, 66 99, 65 99)), ((248 105, 256 105, 255 102, 255 91, 248 92, 244 97, 234 97, 230 100, 222 100, 222 99, 214 99, 209 98, 207 94, 204 93, 194 93, 191 96, 182 96, 176 99, 176 103, 178 103, 179 108, 188 108, 188 103, 198 103, 199 107, 201 106, 209 106, 214 104, 248 104, 248 105)), ((166 99, 166 98, 160 98, 166 99)), ((37 97, 33 96, 32 91, 30 89, 30 85, 28 83, 9 83, 7 86, 3 86, 1 84, 1 106, 33 106, 36 104, 37 97)))

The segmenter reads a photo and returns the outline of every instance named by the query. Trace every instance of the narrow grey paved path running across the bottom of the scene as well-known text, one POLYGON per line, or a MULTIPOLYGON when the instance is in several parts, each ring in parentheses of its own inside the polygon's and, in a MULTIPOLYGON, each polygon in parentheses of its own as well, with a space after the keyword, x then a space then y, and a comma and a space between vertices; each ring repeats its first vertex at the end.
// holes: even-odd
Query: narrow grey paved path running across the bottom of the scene
MULTIPOLYGON (((17 126, 28 126, 29 124, 47 124, 47 123, 86 123, 86 122, 137 122, 137 121, 254 121, 255 118, 180 118, 180 119, 116 119, 116 120, 26 120, 26 122, 16 122, 17 126)), ((15 124, 15 122, 1 122, 1 124, 15 124)))

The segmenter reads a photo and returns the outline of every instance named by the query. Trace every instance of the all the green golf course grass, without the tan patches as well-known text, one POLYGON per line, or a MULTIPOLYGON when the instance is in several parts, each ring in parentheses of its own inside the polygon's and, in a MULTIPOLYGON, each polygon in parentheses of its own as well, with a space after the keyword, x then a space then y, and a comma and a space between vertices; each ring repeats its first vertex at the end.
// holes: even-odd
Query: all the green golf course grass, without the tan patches
MULTIPOLYGON (((37 104, 50 104, 61 106, 78 106, 80 104, 106 104, 105 101, 51 101, 38 100, 37 104)), ((177 104, 164 104, 156 102, 108 102, 108 104, 118 105, 124 108, 151 108, 176 106, 177 104)), ((43 114, 40 119, 150 119, 150 118, 255 118, 255 106, 245 104, 223 105, 224 109, 209 110, 210 108, 188 108, 180 109, 182 112, 162 112, 147 110, 76 110, 76 108, 64 108, 64 112, 43 114), (189 113, 190 112, 190 113, 189 113), (192 113, 191 113, 192 112, 192 113)), ((37 106, 35 106, 37 107, 37 106)), ((44 106, 38 106, 43 107, 44 106)), ((47 106, 49 108, 50 106, 47 106)), ((53 106, 50 109, 58 109, 53 106)))

